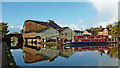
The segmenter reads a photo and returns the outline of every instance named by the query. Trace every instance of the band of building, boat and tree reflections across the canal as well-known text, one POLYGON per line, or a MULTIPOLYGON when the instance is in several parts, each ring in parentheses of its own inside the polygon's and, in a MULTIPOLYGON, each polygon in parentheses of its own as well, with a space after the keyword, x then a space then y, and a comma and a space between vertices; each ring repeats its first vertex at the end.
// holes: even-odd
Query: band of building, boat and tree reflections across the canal
POLYGON ((43 47, 41 44, 35 45, 34 43, 28 43, 23 46, 24 60, 26 63, 34 63, 38 61, 52 62, 58 56, 69 58, 75 52, 79 51, 99 51, 102 56, 103 53, 109 55, 111 58, 118 58, 118 51, 116 44, 99 45, 99 46, 49 46, 43 47), (29 44, 29 45, 28 45, 29 44))

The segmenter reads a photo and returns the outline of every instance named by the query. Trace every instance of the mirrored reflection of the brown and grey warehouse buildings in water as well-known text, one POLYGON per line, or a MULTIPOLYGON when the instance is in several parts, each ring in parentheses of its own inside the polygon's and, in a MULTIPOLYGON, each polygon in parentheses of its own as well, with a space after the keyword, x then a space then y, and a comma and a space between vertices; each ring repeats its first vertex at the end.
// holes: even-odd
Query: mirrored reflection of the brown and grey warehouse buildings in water
POLYGON ((58 56, 70 57, 74 52, 72 49, 58 49, 56 47, 41 48, 36 50, 31 47, 23 47, 24 60, 26 63, 33 63, 37 61, 48 60, 48 62, 54 61, 58 56))

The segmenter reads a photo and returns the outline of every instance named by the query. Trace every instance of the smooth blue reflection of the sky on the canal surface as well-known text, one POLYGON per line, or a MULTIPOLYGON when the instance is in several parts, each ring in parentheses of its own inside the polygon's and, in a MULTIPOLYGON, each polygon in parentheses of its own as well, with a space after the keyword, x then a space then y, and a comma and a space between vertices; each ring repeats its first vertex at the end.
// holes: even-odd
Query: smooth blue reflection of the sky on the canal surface
POLYGON ((25 63, 23 51, 11 50, 16 63, 20 66, 118 66, 118 60, 110 58, 109 55, 100 55, 98 51, 75 52, 69 58, 58 56, 54 61, 41 61, 36 63, 25 63))

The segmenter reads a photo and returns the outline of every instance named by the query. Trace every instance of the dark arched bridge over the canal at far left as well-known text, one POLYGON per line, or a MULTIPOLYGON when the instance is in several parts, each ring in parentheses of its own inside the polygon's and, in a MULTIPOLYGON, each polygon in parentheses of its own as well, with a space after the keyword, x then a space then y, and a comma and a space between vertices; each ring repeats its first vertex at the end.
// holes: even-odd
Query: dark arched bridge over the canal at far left
POLYGON ((11 48, 11 49, 17 49, 17 48, 21 48, 23 45, 23 37, 22 34, 8 34, 4 37, 5 41, 7 42, 7 45, 11 48), (18 44, 14 47, 11 46, 11 37, 16 37, 18 39, 18 44))

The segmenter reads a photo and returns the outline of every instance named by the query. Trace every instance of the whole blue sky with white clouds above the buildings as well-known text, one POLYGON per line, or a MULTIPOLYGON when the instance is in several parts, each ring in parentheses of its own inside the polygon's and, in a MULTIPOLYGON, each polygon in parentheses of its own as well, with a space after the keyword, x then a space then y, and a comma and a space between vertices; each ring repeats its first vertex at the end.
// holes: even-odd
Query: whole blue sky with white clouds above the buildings
POLYGON ((10 32, 20 32, 25 20, 53 20, 61 27, 73 30, 85 30, 100 25, 105 27, 118 21, 118 0, 2 2, 0 21, 8 23, 10 32))

